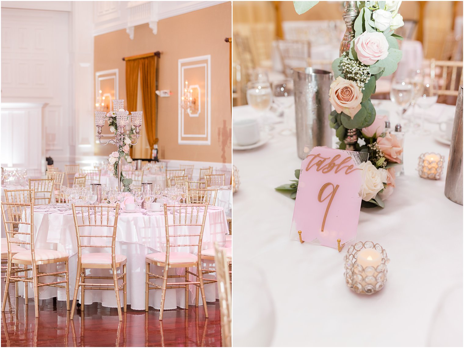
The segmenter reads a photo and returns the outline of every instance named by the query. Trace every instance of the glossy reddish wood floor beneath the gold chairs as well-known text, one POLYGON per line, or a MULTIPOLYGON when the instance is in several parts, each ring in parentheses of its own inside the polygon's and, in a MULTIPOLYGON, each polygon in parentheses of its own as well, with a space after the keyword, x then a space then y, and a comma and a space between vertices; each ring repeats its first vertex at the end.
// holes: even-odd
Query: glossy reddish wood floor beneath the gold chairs
MULTIPOLYGON (((5 282, 1 282, 1 297, 5 282)), ((9 299, 1 318, 2 347, 220 347, 219 303, 208 304, 209 318, 201 307, 188 310, 165 310, 163 321, 159 310, 131 310, 119 322, 117 309, 100 303, 85 305, 85 314, 77 309, 69 320, 66 302, 40 300, 39 318, 34 315, 34 301, 9 299)))

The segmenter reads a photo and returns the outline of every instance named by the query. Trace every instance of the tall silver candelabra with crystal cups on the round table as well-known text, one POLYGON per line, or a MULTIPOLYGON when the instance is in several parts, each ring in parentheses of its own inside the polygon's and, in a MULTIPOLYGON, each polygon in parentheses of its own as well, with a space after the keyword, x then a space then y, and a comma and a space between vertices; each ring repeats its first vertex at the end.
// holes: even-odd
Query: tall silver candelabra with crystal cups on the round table
MULTIPOLYGON (((105 124, 106 119, 106 112, 104 111, 96 111, 95 112, 95 125, 97 126, 97 138, 100 144, 108 145, 108 144, 115 144, 119 150, 124 146, 124 138, 126 138, 126 134, 124 132, 124 128, 127 125, 128 121, 128 114, 129 111, 125 111, 124 107, 124 99, 114 99, 113 100, 113 112, 116 114, 116 124, 117 130, 115 135, 115 140, 110 139, 106 143, 102 143, 102 127, 105 124)), ((133 111, 130 113, 132 125, 135 127, 135 143, 129 143, 129 145, 135 145, 139 141, 140 137, 140 127, 142 126, 142 111, 133 111)), ((117 163, 117 179, 118 179, 118 190, 121 190, 121 168, 122 168, 122 160, 119 159, 117 163)))

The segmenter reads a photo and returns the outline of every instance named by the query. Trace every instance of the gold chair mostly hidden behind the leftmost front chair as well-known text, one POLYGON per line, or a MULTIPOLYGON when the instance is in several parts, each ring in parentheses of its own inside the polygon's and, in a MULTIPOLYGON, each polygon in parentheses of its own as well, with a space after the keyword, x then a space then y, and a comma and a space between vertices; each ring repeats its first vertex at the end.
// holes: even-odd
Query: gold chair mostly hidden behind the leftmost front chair
MULTIPOLYGON (((5 201, 6 203, 22 203, 22 204, 31 204, 33 201, 32 197, 34 197, 34 191, 33 190, 5 190, 5 201)), ((7 213, 10 213, 12 215, 8 216, 9 221, 15 221, 12 223, 10 226, 10 231, 17 231, 19 229, 19 224, 17 221, 20 220, 21 217, 18 217, 15 215, 15 212, 13 210, 7 210, 7 213)), ((24 251, 26 250, 25 248, 21 247, 19 245, 19 238, 14 237, 14 234, 11 234, 10 236, 10 242, 12 243, 12 254, 16 254, 19 251, 24 251)), ((1 238, 1 273, 5 273, 4 276, 1 276, 1 279, 6 279, 6 272, 8 271, 8 240, 7 238, 1 238)), ((18 265, 12 265, 11 266, 11 272, 12 273, 19 273, 19 272, 24 272, 23 267, 20 267, 18 265)), ((25 273, 26 276, 26 273, 25 273)), ((18 284, 14 282, 14 292, 16 298, 19 296, 18 292, 18 284)), ((26 288, 26 294, 27 294, 27 288, 26 288)), ((26 302, 27 303, 27 302, 26 302)))

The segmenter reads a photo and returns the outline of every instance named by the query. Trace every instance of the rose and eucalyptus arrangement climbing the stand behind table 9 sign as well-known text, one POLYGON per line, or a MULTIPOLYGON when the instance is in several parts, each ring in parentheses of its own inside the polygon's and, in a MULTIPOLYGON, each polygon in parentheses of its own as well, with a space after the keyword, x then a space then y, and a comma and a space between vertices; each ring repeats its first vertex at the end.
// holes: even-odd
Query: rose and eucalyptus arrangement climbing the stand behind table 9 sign
MULTIPOLYGON (((299 14, 316 3, 294 1, 299 14)), ((400 4, 401 1, 358 1, 354 38, 348 50, 332 63, 335 81, 328 97, 335 110, 329 115, 329 125, 335 129, 340 149, 369 153, 369 161, 362 164, 366 170, 362 197, 365 207, 385 206, 383 201, 395 187, 393 166, 402 163, 399 139, 385 131, 386 117, 376 115, 371 102, 376 81, 395 72, 402 57, 397 41, 402 38, 394 33, 404 25, 398 13, 400 4), (360 141, 347 147, 348 138, 360 141)), ((298 178, 299 171, 295 175, 298 178)), ((289 191, 290 197, 295 198, 298 180, 292 181, 276 190, 289 191)))

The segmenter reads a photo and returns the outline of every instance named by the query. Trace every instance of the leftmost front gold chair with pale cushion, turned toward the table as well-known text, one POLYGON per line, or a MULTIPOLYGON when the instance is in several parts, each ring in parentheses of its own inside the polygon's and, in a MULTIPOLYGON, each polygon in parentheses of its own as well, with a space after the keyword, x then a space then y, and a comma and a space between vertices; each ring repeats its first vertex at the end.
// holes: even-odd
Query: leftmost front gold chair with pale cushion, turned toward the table
MULTIPOLYGON (((32 190, 31 190, 32 191, 32 190)), ((31 195, 34 195, 34 192, 31 192, 31 195)), ((41 286, 53 286, 57 288, 66 289, 66 309, 69 310, 69 272, 68 272, 68 260, 69 256, 63 251, 58 250, 48 250, 48 249, 35 249, 34 247, 34 204, 22 204, 22 203, 2 203, 2 217, 3 223, 5 225, 5 232, 8 245, 8 271, 6 273, 6 288, 5 294, 3 297, 3 306, 2 312, 5 311, 6 298, 8 297, 8 287, 10 282, 32 282, 34 285, 34 306, 35 306, 35 317, 39 317, 39 287, 41 286), (8 212, 8 219, 5 216, 5 210, 8 212), (27 212, 29 210, 29 213, 27 212), (27 222, 27 216, 30 216, 29 222, 27 222), (11 221, 10 217, 16 216, 19 217, 19 220, 11 221), (18 223, 20 225, 19 231, 13 231, 10 226, 13 223, 18 223), (22 231, 21 227, 25 226, 22 231), (11 235, 26 235, 27 241, 12 241, 10 240, 11 235), (30 246, 30 250, 22 250, 13 255, 13 245, 14 244, 27 244, 30 246), (42 273, 39 272, 39 265, 50 264, 50 263, 60 263, 64 262, 64 271, 56 271, 52 273, 42 273), (25 265, 24 269, 26 272, 32 271, 32 277, 28 276, 16 276, 12 275, 11 268, 13 264, 25 265), (28 268, 31 266, 31 268, 28 268), (57 282, 48 282, 40 283, 39 277, 42 276, 54 276, 54 277, 64 277, 65 280, 57 282), (61 285, 65 283, 65 285, 61 285)), ((25 294, 25 300, 27 304, 27 294, 25 294)))

